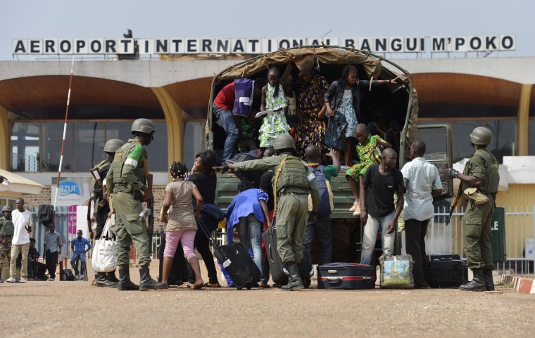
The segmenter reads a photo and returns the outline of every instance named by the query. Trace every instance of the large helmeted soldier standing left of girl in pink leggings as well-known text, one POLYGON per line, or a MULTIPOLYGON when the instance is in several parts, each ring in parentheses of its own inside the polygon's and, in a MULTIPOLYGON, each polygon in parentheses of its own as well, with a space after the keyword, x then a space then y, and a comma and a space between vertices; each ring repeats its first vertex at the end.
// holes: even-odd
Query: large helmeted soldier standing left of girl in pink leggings
POLYGON ((165 289, 165 283, 156 282, 149 273, 149 233, 145 223, 139 220, 143 211, 141 202, 152 200, 152 191, 146 185, 149 176, 146 150, 153 140, 154 124, 149 119, 137 119, 132 124, 134 138, 122 145, 113 157, 106 187, 113 191, 112 204, 115 210, 117 231, 117 265, 119 266, 118 290, 165 289), (130 280, 130 257, 128 252, 134 242, 139 259, 139 286, 130 280))

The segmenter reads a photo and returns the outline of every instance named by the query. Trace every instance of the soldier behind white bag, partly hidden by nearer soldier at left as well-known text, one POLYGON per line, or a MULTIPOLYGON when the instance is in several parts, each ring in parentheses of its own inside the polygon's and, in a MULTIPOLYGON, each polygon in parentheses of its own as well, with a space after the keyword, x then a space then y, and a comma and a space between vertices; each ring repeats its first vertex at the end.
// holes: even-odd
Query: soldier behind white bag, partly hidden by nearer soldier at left
MULTIPOLYGON (((101 184, 96 182, 94 178, 91 182, 94 199, 94 210, 91 212, 91 219, 92 221, 94 220, 96 222, 96 233, 93 236, 93 231, 91 230, 90 226, 89 232, 92 234, 95 240, 99 240, 101 238, 102 230, 106 225, 106 221, 108 220, 108 217, 111 216, 110 204, 108 203, 108 192, 106 190, 106 180, 104 178, 106 178, 106 175, 111 167, 111 162, 113 162, 115 151, 124 144, 124 142, 116 138, 108 140, 106 144, 104 144, 104 152, 106 153, 107 158, 99 164, 96 164, 94 168, 99 169, 101 179, 103 179, 103 181, 100 182, 101 184)), ((95 285, 97 287, 116 287, 118 282, 119 280, 115 277, 115 271, 108 273, 96 272, 95 285)))

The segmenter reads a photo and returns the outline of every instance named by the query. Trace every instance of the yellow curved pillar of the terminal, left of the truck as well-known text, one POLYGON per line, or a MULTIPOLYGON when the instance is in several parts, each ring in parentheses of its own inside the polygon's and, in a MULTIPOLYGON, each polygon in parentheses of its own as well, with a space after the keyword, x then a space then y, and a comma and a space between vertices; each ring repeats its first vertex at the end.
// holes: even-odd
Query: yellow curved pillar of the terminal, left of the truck
MULTIPOLYGON (((164 87, 151 88, 158 100, 165 115, 168 128, 168 165, 173 161, 181 161, 184 155, 182 142, 184 139, 184 120, 182 119, 182 108, 170 96, 164 87)), ((158 131, 156 131, 158 132, 158 131)))

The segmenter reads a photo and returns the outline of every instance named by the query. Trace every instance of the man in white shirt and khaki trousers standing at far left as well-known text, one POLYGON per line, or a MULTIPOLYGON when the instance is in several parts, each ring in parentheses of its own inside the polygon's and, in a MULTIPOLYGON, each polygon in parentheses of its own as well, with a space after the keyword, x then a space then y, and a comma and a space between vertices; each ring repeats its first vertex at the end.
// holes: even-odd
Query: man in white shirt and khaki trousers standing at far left
POLYGON ((9 264, 9 278, 6 282, 16 282, 17 257, 22 253, 20 266, 20 280, 25 283, 28 277, 28 250, 30 249, 30 233, 32 232, 32 213, 24 209, 24 199, 18 198, 15 201, 17 209, 11 212, 13 221, 13 240, 11 240, 11 261, 9 264))

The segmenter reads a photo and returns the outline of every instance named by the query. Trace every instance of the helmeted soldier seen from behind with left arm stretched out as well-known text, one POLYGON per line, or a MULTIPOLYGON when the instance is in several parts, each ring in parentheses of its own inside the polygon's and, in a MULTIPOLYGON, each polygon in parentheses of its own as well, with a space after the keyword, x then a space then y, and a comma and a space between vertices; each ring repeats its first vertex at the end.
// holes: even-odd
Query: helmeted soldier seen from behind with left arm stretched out
MULTIPOLYGON (((296 151, 294 138, 288 134, 279 135, 273 143, 276 155, 261 160, 244 161, 225 164, 229 169, 255 170, 278 169, 279 164, 296 151)), ((317 206, 320 204, 320 193, 317 190, 314 174, 308 164, 298 157, 290 157, 282 167, 277 178, 276 230, 277 251, 289 271, 288 284, 282 290, 303 289, 303 281, 299 276, 298 266, 303 259, 303 238, 308 223, 315 223, 317 206), (290 160, 291 159, 291 160, 290 160), (308 213, 308 194, 312 196, 313 208, 308 213)), ((226 169, 226 168, 225 168, 226 169)), ((275 175, 277 176, 277 175, 275 175)), ((275 177, 272 183, 275 185, 275 177)))

